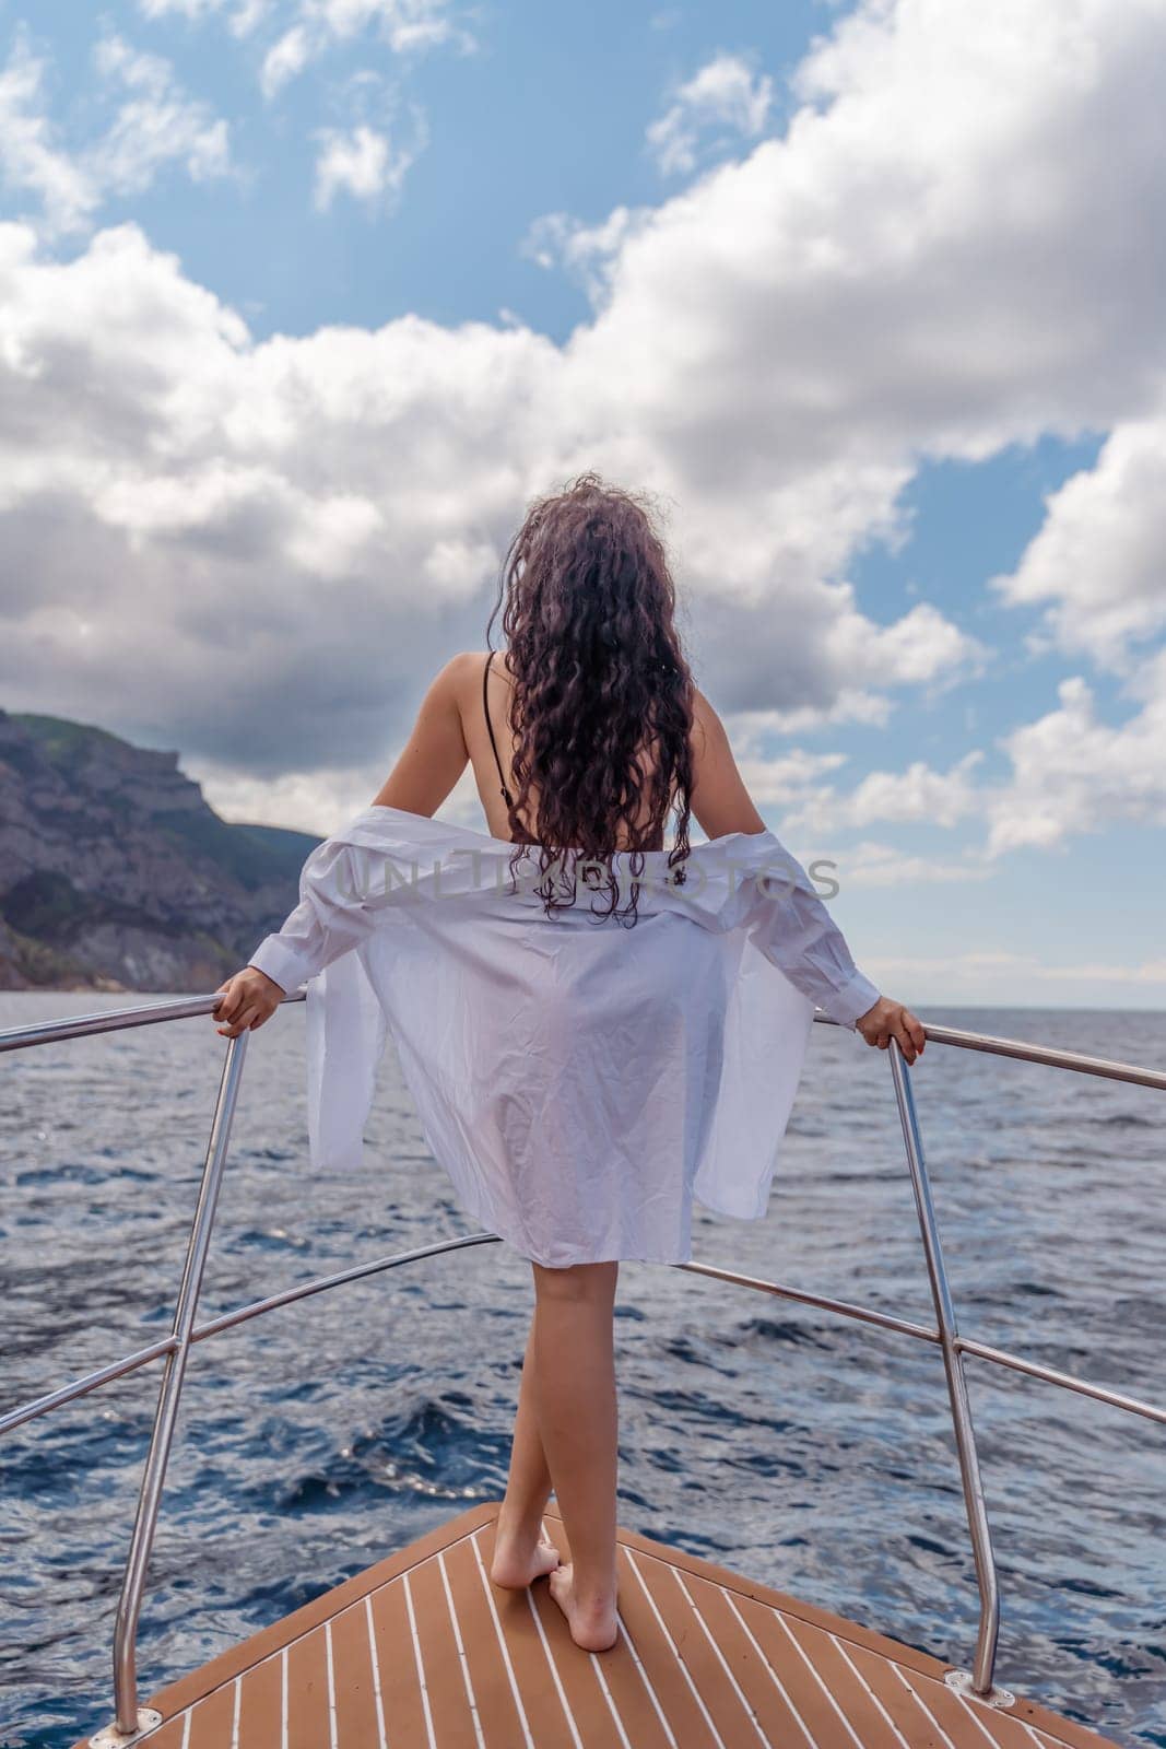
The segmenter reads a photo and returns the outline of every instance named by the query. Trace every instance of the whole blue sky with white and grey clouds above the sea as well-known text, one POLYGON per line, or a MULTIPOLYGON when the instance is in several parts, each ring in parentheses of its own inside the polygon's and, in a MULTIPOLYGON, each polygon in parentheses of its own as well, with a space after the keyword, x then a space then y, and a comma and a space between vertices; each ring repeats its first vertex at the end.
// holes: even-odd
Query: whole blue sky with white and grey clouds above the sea
POLYGON ((0 705, 327 834, 596 469, 879 988, 1166 1007, 1164 73, 1166 0, 0 0, 0 705))

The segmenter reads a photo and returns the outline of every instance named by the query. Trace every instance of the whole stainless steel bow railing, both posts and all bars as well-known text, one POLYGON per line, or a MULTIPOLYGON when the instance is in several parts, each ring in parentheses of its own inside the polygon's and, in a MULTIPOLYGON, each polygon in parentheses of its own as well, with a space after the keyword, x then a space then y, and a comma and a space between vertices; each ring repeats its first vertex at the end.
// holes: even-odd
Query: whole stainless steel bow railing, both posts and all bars
MULTIPOLYGON (((304 995, 301 992, 288 997, 287 1000, 302 1002, 304 995)), ((126 1027, 149 1027, 159 1021, 187 1020, 199 1014, 210 1014, 213 1013, 217 1002, 219 1002, 217 995, 180 997, 173 1002, 150 1002, 140 1007, 108 1009, 98 1014, 79 1014, 68 1020, 40 1021, 31 1027, 16 1027, 9 1032, 0 1032, 0 1053, 28 1049, 30 1046, 35 1044, 58 1044, 66 1039, 89 1037, 100 1032, 119 1032, 126 1027)), ((832 1025, 832 1021, 827 1021, 823 1014, 816 1014, 815 1018, 827 1025, 832 1025)), ((986 1034, 961 1032, 954 1027, 925 1027, 923 1030, 927 1032, 928 1041, 935 1044, 949 1044, 970 1051, 988 1051, 996 1056, 1021 1058, 1023 1062, 1042 1063, 1056 1069, 1068 1069, 1079 1074, 1101 1076, 1108 1081, 1131 1081, 1140 1086, 1149 1086, 1166 1091, 1166 1072, 1156 1069, 1138 1069, 1131 1063, 1115 1063, 1096 1056, 1082 1056, 1075 1051, 1058 1051, 1038 1044, 1024 1044, 1017 1039, 995 1039, 986 1034)), ((266 1300, 257 1300, 252 1301, 250 1305, 238 1307, 234 1312, 227 1312, 217 1319, 212 1319, 206 1324, 196 1324, 198 1300, 203 1284, 203 1270, 210 1249, 210 1237, 215 1221, 219 1189, 222 1184, 222 1175, 227 1161, 227 1147, 231 1142, 231 1125, 234 1118, 239 1081, 243 1076, 243 1065, 246 1062, 246 1042, 248 1042, 248 1034, 241 1034, 238 1039, 231 1039, 227 1044, 222 1081, 219 1086, 219 1098, 215 1102, 215 1114, 206 1146, 206 1158, 203 1163, 199 1195, 194 1209, 194 1217, 191 1223, 187 1258, 182 1272, 182 1284, 178 1289, 178 1301, 170 1334, 159 1338, 157 1341, 149 1343, 143 1348, 135 1350, 133 1354, 122 1355, 117 1361, 110 1361, 107 1366, 101 1366, 93 1373, 86 1373, 82 1378, 72 1380, 66 1385, 59 1385, 54 1390, 47 1390, 42 1396, 35 1397, 33 1401, 10 1410, 7 1415, 0 1415, 0 1434, 3 1434, 14 1427, 23 1425, 24 1422, 35 1420, 37 1417, 49 1413, 51 1410, 61 1408, 65 1403, 72 1403, 77 1397, 87 1396, 91 1390, 98 1390, 110 1380, 136 1371, 140 1366, 147 1366, 157 1359, 163 1361, 163 1378, 157 1394, 154 1431, 150 1434, 150 1445, 147 1450, 145 1467, 142 1474, 138 1509, 135 1516, 133 1534, 129 1539, 126 1572, 122 1578, 121 1597, 117 1606, 117 1623, 114 1632, 114 1723, 100 1730, 91 1739, 94 1749, 114 1749, 114 1746, 129 1744, 142 1732, 152 1730, 159 1723, 157 1712, 154 1712, 149 1707, 138 1705, 136 1634, 138 1634, 138 1618, 142 1611, 142 1599, 145 1593, 145 1578, 150 1562, 150 1550, 154 1544, 154 1529, 157 1525, 163 1485, 166 1480, 166 1464, 170 1459, 175 1420, 182 1396, 182 1385, 185 1380, 185 1366, 192 1343, 205 1341, 210 1336, 217 1336, 224 1329, 231 1329, 236 1324, 243 1324, 253 1317, 259 1317, 264 1312, 273 1312, 276 1310, 276 1307, 290 1305, 295 1300, 306 1300, 313 1294, 323 1293, 330 1287, 339 1287, 346 1282, 362 1280, 364 1277, 378 1275, 385 1270, 393 1270, 406 1263, 418 1263, 423 1258, 435 1258, 449 1251, 462 1251, 468 1245, 489 1245, 498 1242, 495 1233, 467 1233, 462 1235, 460 1238, 439 1240, 437 1244, 421 1245, 414 1251, 395 1252, 393 1256, 388 1258, 374 1258, 369 1263, 358 1263, 334 1275, 325 1275, 318 1277, 316 1280, 301 1282, 295 1287, 283 1289, 281 1293, 271 1294, 266 1300)), ((1138 1397, 1131 1397, 1126 1396, 1124 1392, 1112 1390, 1108 1385, 1093 1383, 1086 1378, 1077 1378, 1072 1373, 1061 1373, 1054 1368, 1042 1366, 1037 1361, 1030 1361, 1024 1355, 1009 1354, 1002 1348, 993 1348, 988 1343, 981 1343, 968 1336, 960 1334, 956 1322, 956 1308, 951 1294, 951 1286, 947 1280, 947 1270, 944 1265, 942 1244, 939 1237, 939 1223, 935 1217, 935 1207, 932 1200, 930 1177, 927 1172, 927 1161, 923 1154, 920 1121, 914 1109, 911 1074, 907 1070, 907 1063, 902 1056, 902 1051, 899 1049, 899 1044, 895 1041, 892 1041, 888 1046, 888 1056, 895 1088, 895 1100, 899 1105, 899 1116, 902 1123, 907 1170, 911 1174, 911 1186, 914 1191, 920 1235, 923 1238, 923 1256, 927 1261, 928 1284, 932 1291, 935 1327, 916 1324, 909 1319, 900 1319, 895 1317, 893 1313, 879 1312, 872 1307, 850 1305, 844 1300, 832 1300, 825 1294, 806 1293, 802 1289, 790 1287, 783 1282, 767 1282, 750 1275, 739 1275, 732 1270, 724 1270, 710 1263, 692 1261, 677 1265, 677 1268, 689 1270, 694 1275, 706 1275, 713 1280, 736 1284, 738 1287, 748 1287, 759 1293, 774 1294, 778 1298, 792 1300, 801 1305, 816 1307, 818 1310, 832 1312, 839 1317, 857 1319, 860 1322, 872 1324, 879 1329, 888 1329, 895 1334, 911 1336, 916 1341, 928 1341, 939 1347, 944 1362, 944 1376, 947 1382, 951 1424, 956 1441, 956 1457, 960 1464, 960 1480, 963 1485, 963 1502, 972 1537, 975 1581, 981 1600, 979 1634, 975 1644, 974 1667, 970 1672, 951 1670, 947 1681, 956 1688, 975 1693, 981 1700, 988 1700, 991 1704, 1007 1707, 1012 1697, 1005 1690, 993 1688, 996 1642, 1000 1634, 1000 1595, 996 1581, 996 1562, 991 1546, 991 1525, 988 1522, 988 1508, 984 1501, 979 1455, 975 1450, 975 1431, 972 1425, 972 1408, 968 1401, 968 1389, 963 1369, 965 1355, 972 1355, 974 1359, 979 1361, 988 1361, 993 1366, 1010 1368, 1014 1371, 1026 1373, 1031 1378, 1045 1380, 1047 1383, 1059 1385, 1061 1389, 1066 1390, 1077 1390, 1082 1396, 1094 1397, 1100 1403, 1108 1403, 1112 1408, 1126 1410, 1128 1413, 1133 1415, 1142 1415, 1147 1420, 1154 1420, 1163 1425, 1166 1425, 1166 1408, 1161 1408, 1152 1403, 1143 1403, 1138 1397)))

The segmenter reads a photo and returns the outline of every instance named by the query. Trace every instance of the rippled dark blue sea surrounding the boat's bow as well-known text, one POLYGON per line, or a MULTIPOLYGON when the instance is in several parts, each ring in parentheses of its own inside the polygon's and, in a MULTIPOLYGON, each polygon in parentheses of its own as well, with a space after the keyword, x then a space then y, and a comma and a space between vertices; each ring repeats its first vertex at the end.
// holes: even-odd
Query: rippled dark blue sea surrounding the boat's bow
MULTIPOLYGON (((0 1027, 145 997, 3 995, 0 1027)), ((1166 1014, 925 1020, 1166 1067, 1166 1014)), ((208 1018, 0 1060, 0 1411, 168 1329, 224 1041, 208 1018)), ((313 1177, 304 1011, 250 1041, 201 1317, 467 1231, 392 1055, 358 1174, 313 1177)), ((928 1046, 913 1070, 961 1331, 1166 1399, 1166 1093, 928 1046)), ((930 1320, 890 1063, 815 1027, 764 1221, 696 1256, 930 1320)), ((530 1270, 503 1245, 196 1345, 142 1611, 140 1691, 502 1494, 530 1270)), ((939 1354, 624 1265, 621 1523, 968 1667, 977 1593, 939 1354)), ((0 1746, 112 1718, 157 1392, 142 1369, 0 1441, 0 1746)), ((1166 1746, 1163 1429, 968 1361, 1002 1590, 996 1677, 1166 1746)))

